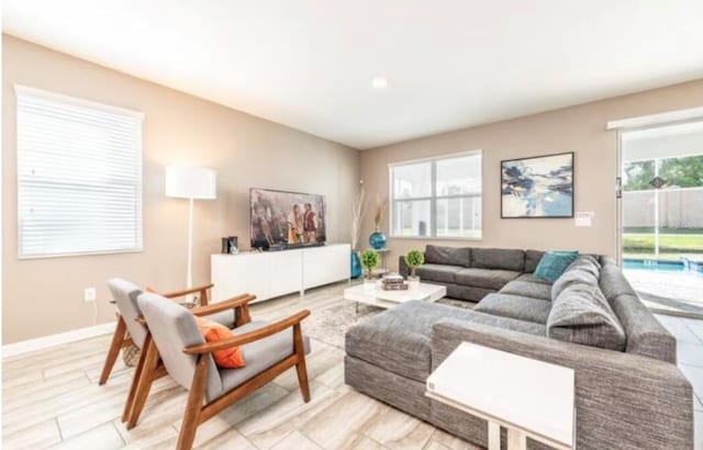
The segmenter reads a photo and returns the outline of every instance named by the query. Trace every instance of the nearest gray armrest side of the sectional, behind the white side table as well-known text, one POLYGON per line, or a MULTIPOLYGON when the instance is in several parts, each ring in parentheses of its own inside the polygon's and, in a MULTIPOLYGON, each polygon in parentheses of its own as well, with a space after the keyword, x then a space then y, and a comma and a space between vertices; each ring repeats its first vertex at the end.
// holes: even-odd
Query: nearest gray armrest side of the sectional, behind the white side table
POLYGON ((433 326, 433 369, 462 341, 573 369, 579 449, 693 449, 693 391, 674 364, 447 318, 433 326))

